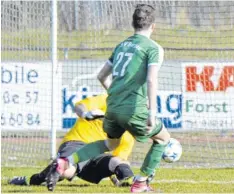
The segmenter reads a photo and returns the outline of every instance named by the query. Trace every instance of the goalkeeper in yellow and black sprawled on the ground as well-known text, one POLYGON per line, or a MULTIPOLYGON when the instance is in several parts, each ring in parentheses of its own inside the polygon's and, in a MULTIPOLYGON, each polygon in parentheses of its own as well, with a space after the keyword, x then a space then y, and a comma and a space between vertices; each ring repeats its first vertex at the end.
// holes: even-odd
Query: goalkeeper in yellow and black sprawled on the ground
MULTIPOLYGON (((98 95, 86 98, 75 105, 75 112, 80 117, 71 130, 65 135, 58 149, 57 157, 68 157, 86 143, 104 140, 107 138, 102 128, 102 117, 106 111, 107 95, 98 95)), ((134 138, 130 133, 125 132, 120 145, 112 152, 99 155, 88 161, 78 163, 77 168, 70 167, 65 177, 68 180, 77 175, 79 178, 91 183, 98 184, 103 178, 114 177, 111 179, 117 186, 128 185, 132 180, 133 172, 127 162, 134 145, 134 138), (114 181, 113 181, 114 180, 114 181)), ((27 177, 15 177, 9 181, 14 185, 40 185, 46 181, 46 176, 50 169, 47 166, 42 172, 32 175, 29 180, 27 177)))

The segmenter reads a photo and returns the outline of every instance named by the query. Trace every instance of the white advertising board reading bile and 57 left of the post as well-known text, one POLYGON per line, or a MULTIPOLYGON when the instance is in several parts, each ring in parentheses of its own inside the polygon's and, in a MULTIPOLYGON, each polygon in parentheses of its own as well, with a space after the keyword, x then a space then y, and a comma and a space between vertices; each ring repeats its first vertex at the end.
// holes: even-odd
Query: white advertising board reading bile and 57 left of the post
POLYGON ((51 129, 51 63, 1 64, 2 130, 51 129))

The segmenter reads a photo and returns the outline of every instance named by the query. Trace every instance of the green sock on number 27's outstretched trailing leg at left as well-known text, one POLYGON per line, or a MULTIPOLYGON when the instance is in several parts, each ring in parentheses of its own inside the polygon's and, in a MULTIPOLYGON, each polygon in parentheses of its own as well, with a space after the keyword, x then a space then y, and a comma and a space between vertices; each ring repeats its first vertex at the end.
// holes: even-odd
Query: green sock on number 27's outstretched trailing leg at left
POLYGON ((78 162, 89 160, 90 158, 98 156, 99 154, 107 151, 109 151, 109 149, 106 147, 105 141, 100 140, 83 146, 67 159, 69 163, 77 164, 78 162))

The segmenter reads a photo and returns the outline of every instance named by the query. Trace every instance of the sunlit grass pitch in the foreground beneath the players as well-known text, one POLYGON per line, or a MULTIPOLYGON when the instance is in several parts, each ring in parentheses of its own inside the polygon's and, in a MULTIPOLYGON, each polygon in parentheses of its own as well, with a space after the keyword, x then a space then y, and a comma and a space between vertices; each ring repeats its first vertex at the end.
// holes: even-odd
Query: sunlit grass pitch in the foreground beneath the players
MULTIPOLYGON (((45 186, 12 186, 10 177, 38 172, 36 168, 2 168, 3 193, 46 193, 45 186)), ((152 184, 163 193, 234 193, 234 169, 159 169, 152 184)), ((76 179, 58 183, 54 193, 127 193, 129 188, 116 188, 108 180, 93 185, 76 179)))

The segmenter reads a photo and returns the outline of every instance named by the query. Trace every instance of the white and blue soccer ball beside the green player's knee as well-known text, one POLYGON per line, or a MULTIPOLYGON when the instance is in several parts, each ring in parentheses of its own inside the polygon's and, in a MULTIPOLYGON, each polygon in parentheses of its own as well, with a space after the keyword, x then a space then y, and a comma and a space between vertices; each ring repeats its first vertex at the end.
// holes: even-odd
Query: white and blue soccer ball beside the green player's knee
POLYGON ((163 160, 168 163, 176 162, 180 159, 181 155, 182 146, 180 142, 174 138, 170 138, 162 155, 163 160))

